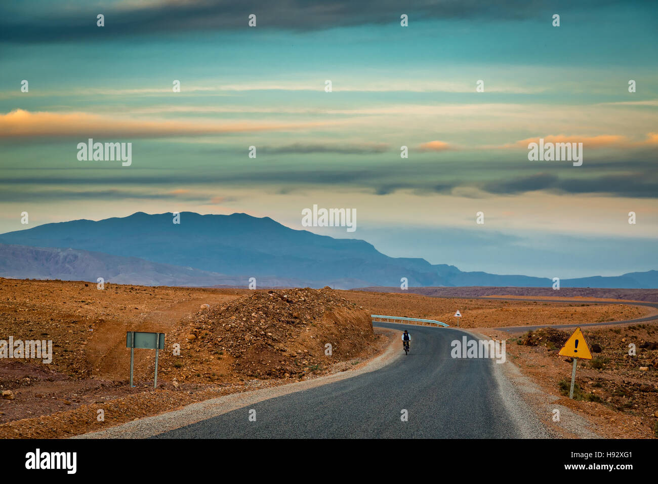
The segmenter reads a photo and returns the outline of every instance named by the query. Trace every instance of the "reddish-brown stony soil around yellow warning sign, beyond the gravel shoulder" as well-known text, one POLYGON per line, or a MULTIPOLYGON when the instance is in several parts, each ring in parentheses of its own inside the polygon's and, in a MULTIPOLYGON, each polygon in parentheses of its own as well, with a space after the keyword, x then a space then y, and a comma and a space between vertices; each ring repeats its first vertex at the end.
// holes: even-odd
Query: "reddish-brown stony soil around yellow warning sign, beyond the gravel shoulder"
POLYGON ((612 439, 658 437, 658 326, 584 328, 592 360, 578 360, 574 400, 569 399, 572 360, 557 353, 572 331, 542 328, 507 339, 507 358, 561 405, 585 416, 612 439), (629 344, 636 354, 629 355, 629 344))

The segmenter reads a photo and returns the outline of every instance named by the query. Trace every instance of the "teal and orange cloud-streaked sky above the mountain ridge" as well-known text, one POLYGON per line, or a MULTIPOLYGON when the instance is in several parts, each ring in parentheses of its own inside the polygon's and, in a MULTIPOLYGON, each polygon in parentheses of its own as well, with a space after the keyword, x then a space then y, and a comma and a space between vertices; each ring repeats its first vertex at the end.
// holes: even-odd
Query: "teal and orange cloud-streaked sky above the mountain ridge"
POLYGON ((658 269, 656 45, 648 1, 4 1, 0 232, 244 212, 464 271, 658 269))

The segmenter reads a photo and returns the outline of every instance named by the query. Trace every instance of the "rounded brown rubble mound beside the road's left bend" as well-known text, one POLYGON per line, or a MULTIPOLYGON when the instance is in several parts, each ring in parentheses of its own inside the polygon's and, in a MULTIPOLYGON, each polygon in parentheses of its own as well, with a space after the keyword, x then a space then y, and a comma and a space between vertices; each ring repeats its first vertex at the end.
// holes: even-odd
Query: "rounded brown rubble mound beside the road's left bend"
MULTIPOLYGON (((256 291, 202 308, 188 321, 169 340, 181 342, 181 355, 198 354, 211 363, 205 365, 210 376, 212 360, 222 360, 218 368, 245 377, 300 377, 354 358, 375 340, 369 313, 330 288, 256 291)), ((164 362, 176 367, 176 356, 164 362)), ((203 377, 188 373, 186 378, 203 377)))

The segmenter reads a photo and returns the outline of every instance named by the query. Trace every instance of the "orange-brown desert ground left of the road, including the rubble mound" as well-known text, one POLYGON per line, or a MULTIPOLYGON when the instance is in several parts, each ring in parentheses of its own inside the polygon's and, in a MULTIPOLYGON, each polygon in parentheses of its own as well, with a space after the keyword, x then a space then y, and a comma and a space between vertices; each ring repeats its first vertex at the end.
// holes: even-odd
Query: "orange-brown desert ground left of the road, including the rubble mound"
POLYGON ((0 437, 73 435, 218 394, 343 371, 381 346, 369 314, 330 288, 99 290, 90 282, 0 279, 0 340, 9 336, 52 340, 53 361, 0 359, 0 390, 12 393, 0 398, 0 437), (153 350, 135 350, 130 388, 126 331, 166 333, 158 389, 153 350))

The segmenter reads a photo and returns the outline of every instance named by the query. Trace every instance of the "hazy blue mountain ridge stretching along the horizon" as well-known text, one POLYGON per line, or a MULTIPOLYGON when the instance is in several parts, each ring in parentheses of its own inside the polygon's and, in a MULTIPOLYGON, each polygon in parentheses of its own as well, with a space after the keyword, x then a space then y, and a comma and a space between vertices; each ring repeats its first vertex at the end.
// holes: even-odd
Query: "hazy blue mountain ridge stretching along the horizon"
MULTIPOLYGON (((179 272, 186 268, 201 271, 195 273, 199 281, 213 281, 213 278, 226 281, 236 276, 240 281, 236 285, 240 286, 246 286, 248 282, 244 281, 249 277, 255 277, 257 281, 295 281, 311 287, 333 285, 336 288, 399 286, 402 277, 407 278, 409 286, 547 287, 553 284, 548 278, 463 272, 453 265, 432 265, 425 259, 388 257, 364 240, 336 239, 307 230, 294 230, 270 217, 257 218, 245 213, 199 215, 182 212, 180 225, 172 220, 172 213, 149 215, 137 212, 128 217, 101 221, 49 223, 1 234, 0 244, 86 251, 95 253, 93 257, 96 259, 103 258, 99 253, 136 257, 165 265, 143 266, 144 271, 152 273, 145 278, 152 280, 152 285, 160 285, 161 279, 182 277, 189 280, 179 272)), ((3 254, 7 257, 10 253, 5 249, 3 254)), ((11 270, 14 274, 37 274, 41 270, 38 257, 36 253, 29 256, 30 260, 22 262, 24 267, 20 261, 14 260, 11 270)), ((114 270, 125 263, 119 259, 105 261, 114 270)), ((5 271, 1 264, 0 271, 5 271)), ((46 267, 41 272, 46 273, 46 267)), ((129 272, 120 273, 126 275, 129 272)), ((139 279, 139 273, 130 273, 139 279)), ((224 282, 171 285, 222 284, 224 282)), ((265 286, 263 282, 257 284, 265 286)), ((658 287, 658 271, 563 279, 560 284, 562 287, 655 288, 658 287)))

